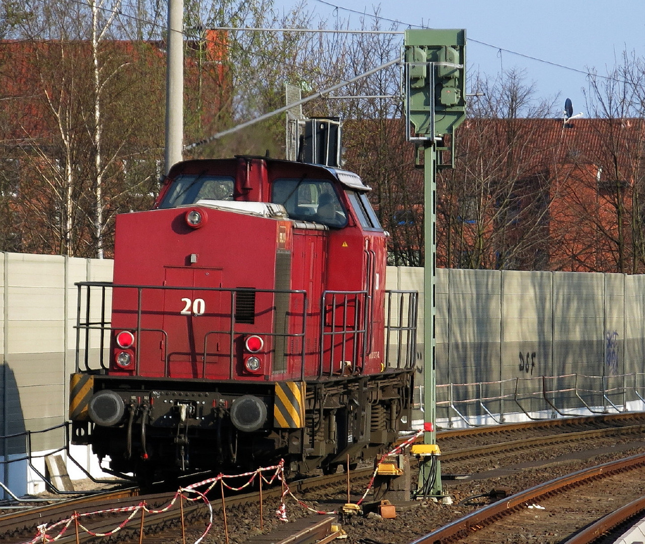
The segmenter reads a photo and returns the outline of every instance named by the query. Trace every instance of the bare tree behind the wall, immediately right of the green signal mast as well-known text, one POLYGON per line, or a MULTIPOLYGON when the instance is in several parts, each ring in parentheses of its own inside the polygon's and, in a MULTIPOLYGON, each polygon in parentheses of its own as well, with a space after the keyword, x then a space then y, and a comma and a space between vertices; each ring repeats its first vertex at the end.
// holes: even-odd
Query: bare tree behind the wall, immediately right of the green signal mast
MULTIPOLYGON (((457 134, 457 167, 437 181, 438 259, 444 267, 541 269, 549 179, 531 120, 551 114, 511 70, 471 83, 479 95, 457 134), (518 119, 520 112, 531 117, 518 119)), ((546 153, 546 154, 545 154, 546 153)))

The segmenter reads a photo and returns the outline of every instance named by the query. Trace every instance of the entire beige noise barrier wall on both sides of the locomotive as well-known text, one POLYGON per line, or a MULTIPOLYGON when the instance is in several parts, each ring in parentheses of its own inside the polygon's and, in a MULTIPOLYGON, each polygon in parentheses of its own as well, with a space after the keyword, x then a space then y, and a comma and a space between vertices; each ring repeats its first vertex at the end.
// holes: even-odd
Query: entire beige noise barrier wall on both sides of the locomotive
MULTIPOLYGON (((65 421, 75 363, 74 283, 111 279, 108 260, 0 253, 0 436, 65 421)), ((390 267, 386 284, 421 293, 421 369, 423 270, 390 267)), ((519 387, 517 378, 642 372, 645 276, 439 269, 436 311, 437 385, 466 384, 452 389, 451 401, 503 398, 504 384, 515 380, 519 387)), ((445 390, 438 391, 437 401, 446 402, 445 390)), ((32 440, 32 450, 42 451, 60 448, 64 436, 34 434, 32 440)), ((0 439, 0 460, 25 451, 24 436, 0 439)), ((5 463, 5 483, 8 473, 5 463)))

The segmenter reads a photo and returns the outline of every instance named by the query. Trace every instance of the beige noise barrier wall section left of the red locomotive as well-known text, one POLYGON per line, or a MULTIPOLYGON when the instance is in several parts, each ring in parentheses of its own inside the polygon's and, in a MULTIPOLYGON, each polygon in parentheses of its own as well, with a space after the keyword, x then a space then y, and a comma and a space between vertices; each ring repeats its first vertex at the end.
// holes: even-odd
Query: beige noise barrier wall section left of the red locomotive
POLYGON ((37 431, 67 418, 76 281, 112 281, 112 261, 0 252, 0 436, 10 437, 0 439, 0 481, 12 490, 26 491, 26 465, 13 460, 64 444, 63 428, 37 431), (36 432, 30 443, 25 431, 36 432))

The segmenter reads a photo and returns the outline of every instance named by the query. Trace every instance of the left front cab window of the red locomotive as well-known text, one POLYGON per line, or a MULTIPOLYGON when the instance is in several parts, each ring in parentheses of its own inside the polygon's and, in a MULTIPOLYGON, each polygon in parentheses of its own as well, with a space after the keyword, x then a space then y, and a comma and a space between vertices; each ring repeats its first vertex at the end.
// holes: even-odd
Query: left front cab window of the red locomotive
POLYGON ((179 174, 159 203, 159 208, 176 208, 198 200, 233 200, 233 178, 206 174, 179 174))

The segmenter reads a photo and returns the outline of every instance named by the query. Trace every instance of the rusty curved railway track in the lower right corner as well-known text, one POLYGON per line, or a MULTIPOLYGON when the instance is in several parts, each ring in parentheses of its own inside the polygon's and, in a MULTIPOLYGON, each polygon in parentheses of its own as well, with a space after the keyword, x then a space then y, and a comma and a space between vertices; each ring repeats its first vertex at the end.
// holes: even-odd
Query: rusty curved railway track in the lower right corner
POLYGON ((633 501, 640 498, 644 486, 645 454, 611 461, 496 501, 414 544, 497 544, 519 542, 527 536, 541 543, 588 544, 622 523, 625 515, 642 511, 640 501, 633 501), (608 494, 608 489, 613 492, 608 494), (622 507, 625 512, 616 516, 622 507))

